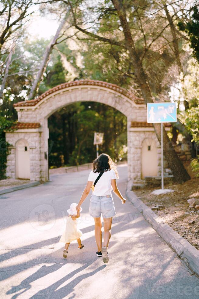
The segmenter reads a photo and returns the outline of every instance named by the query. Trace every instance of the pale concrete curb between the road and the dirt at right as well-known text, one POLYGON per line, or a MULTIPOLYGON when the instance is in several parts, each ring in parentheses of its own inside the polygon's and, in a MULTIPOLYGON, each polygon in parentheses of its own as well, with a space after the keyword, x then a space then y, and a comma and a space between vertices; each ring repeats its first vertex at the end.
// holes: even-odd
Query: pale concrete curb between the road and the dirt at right
POLYGON ((152 225, 155 231, 169 244, 190 270, 199 277, 199 250, 166 224, 164 219, 147 207, 133 191, 127 188, 126 195, 128 200, 143 214, 145 220, 152 225))

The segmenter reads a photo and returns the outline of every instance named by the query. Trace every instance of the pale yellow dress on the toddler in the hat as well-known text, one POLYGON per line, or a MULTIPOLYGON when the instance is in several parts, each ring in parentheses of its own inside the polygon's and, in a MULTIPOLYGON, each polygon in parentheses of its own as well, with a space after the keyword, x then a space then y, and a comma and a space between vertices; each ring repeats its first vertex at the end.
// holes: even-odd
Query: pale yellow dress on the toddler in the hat
POLYGON ((82 236, 82 232, 77 228, 77 219, 72 220, 71 216, 66 219, 65 232, 61 236, 59 242, 70 243, 79 239, 82 236))

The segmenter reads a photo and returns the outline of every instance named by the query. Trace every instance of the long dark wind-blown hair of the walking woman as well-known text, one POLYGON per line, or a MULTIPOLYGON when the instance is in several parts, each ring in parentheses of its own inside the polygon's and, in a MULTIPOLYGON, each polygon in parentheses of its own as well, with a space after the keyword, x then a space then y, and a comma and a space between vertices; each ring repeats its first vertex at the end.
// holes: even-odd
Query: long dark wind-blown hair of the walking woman
POLYGON ((113 162, 111 157, 107 154, 100 154, 98 158, 96 158, 92 163, 93 172, 102 172, 109 171, 113 169, 116 174, 116 178, 119 178, 119 174, 117 171, 117 165, 113 162))

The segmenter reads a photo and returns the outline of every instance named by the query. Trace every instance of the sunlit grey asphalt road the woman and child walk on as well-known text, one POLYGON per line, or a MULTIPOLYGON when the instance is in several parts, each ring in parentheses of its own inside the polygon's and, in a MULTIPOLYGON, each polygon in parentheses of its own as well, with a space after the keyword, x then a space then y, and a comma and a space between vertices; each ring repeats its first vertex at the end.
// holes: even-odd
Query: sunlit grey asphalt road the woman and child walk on
MULTIPOLYGON (((130 202, 114 195, 110 261, 95 254, 94 222, 89 198, 82 205, 78 250, 70 244, 63 259, 66 210, 78 202, 90 170, 52 175, 43 185, 1 198, 1 298, 131 298, 195 299, 199 279, 144 220, 130 202)), ((125 195, 127 166, 119 167, 119 189, 125 195)), ((4 196, 3 196, 4 197, 4 196)))

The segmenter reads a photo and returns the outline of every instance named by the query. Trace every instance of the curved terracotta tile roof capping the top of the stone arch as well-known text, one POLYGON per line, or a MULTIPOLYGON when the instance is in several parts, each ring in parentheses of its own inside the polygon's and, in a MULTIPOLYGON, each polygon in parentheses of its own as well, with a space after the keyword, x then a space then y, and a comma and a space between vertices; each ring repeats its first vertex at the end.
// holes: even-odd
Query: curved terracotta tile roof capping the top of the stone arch
POLYGON ((67 88, 67 87, 71 87, 71 86, 82 86, 82 85, 106 87, 106 88, 114 90, 118 93, 121 93, 122 95, 127 96, 127 98, 133 100, 136 104, 144 104, 143 99, 136 97, 131 92, 128 92, 126 89, 121 88, 115 84, 111 84, 111 83, 107 83, 107 82, 103 82, 103 81, 96 81, 96 80, 78 80, 78 81, 66 82, 66 83, 60 84, 58 86, 55 86, 55 87, 47 90, 46 92, 44 92, 42 95, 40 95, 36 99, 18 102, 18 103, 15 103, 14 106, 15 107, 35 106, 38 102, 40 102, 47 95, 50 95, 53 92, 56 92, 58 90, 61 90, 61 89, 67 88))

